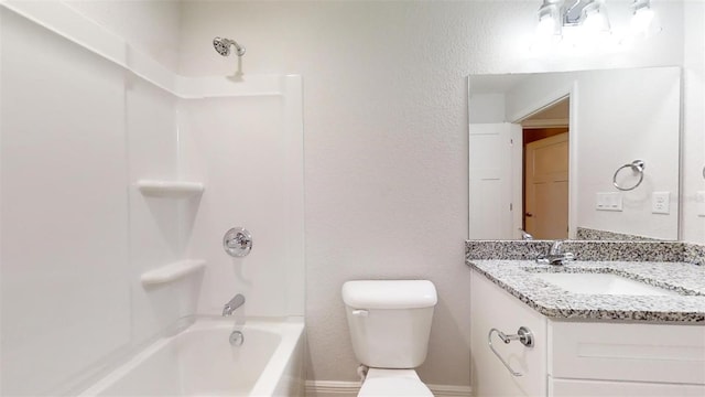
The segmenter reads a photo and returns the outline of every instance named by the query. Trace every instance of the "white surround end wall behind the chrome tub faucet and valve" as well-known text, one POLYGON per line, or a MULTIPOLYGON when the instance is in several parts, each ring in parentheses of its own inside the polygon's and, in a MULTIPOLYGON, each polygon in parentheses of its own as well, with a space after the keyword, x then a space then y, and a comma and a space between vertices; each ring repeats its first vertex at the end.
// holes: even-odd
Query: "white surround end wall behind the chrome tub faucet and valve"
POLYGON ((199 314, 220 315, 242 293, 236 318, 304 315, 301 84, 280 81, 276 95, 248 90, 180 105, 182 172, 206 185, 188 238, 192 256, 207 260, 199 314), (223 249, 236 226, 252 234, 241 258, 223 249))

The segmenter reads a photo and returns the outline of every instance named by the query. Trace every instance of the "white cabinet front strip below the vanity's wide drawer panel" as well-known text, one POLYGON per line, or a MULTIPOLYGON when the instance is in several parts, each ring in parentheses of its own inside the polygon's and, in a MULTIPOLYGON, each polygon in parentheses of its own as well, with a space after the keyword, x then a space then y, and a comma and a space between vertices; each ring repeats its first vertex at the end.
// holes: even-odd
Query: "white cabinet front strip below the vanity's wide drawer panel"
POLYGON ((665 397, 705 396, 703 385, 676 385, 638 382, 552 379, 549 383, 551 397, 665 397))

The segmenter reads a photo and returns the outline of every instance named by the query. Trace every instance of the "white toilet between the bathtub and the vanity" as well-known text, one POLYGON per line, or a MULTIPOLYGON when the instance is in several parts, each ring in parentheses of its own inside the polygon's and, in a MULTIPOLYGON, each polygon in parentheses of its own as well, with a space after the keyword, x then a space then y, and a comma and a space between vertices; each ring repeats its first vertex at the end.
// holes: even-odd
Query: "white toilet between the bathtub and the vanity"
POLYGON ((414 371, 426 358, 433 308, 429 280, 360 280, 343 285, 355 356, 367 366, 359 397, 433 396, 414 371))

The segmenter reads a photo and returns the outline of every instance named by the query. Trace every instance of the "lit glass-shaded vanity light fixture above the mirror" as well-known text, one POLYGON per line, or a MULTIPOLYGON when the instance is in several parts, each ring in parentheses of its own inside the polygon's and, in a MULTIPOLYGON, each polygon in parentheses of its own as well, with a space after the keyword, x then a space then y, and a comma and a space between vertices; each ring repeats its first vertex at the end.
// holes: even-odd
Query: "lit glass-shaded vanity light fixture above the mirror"
MULTIPOLYGON (((654 18, 651 0, 633 0, 631 9, 630 33, 647 33, 654 18)), ((538 15, 536 34, 544 39, 562 39, 567 30, 579 31, 581 35, 611 32, 606 0, 543 0, 538 15)))

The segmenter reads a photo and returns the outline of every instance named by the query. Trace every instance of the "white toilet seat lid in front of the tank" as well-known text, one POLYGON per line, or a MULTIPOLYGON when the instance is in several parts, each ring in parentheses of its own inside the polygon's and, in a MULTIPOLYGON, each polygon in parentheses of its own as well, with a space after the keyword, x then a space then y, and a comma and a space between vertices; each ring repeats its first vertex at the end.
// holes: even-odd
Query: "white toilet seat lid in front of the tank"
POLYGON ((358 397, 408 396, 433 397, 413 369, 370 368, 358 397))

